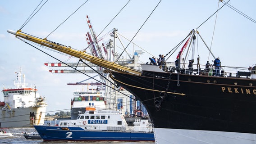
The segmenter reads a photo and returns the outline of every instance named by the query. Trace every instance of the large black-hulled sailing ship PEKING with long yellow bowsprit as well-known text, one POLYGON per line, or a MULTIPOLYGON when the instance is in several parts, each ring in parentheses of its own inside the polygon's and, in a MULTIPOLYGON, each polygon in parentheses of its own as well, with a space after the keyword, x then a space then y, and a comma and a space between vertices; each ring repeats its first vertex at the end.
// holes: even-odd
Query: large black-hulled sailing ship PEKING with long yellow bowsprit
MULTIPOLYGON (((8 32, 105 67, 117 86, 130 91, 146 107, 157 143, 255 141, 256 66, 248 72, 224 71, 222 76, 209 76, 199 68, 189 74, 179 60, 178 67, 167 72, 148 64, 142 65, 141 72, 20 30, 8 32)), ((190 40, 196 33, 190 32, 190 40)))

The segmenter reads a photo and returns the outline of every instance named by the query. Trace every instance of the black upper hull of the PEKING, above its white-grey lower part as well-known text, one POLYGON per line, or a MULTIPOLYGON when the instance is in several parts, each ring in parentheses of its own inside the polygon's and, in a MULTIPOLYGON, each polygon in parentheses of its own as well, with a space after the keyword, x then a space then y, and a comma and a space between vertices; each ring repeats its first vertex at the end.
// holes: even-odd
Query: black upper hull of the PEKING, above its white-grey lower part
POLYGON ((112 72, 111 77, 144 104, 155 129, 256 134, 255 79, 143 74, 112 72))

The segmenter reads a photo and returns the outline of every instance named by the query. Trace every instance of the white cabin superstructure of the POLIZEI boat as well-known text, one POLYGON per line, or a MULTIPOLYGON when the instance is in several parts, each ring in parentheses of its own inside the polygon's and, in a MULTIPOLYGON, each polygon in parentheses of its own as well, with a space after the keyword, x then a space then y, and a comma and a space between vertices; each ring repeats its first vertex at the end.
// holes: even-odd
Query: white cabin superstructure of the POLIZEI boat
POLYGON ((80 113, 76 120, 59 121, 57 126, 81 127, 84 130, 109 130, 109 131, 139 131, 151 132, 152 126, 148 120, 136 121, 135 126, 128 126, 122 112, 114 110, 96 110, 86 108, 86 112, 80 113), (140 123, 142 125, 140 126, 140 123))

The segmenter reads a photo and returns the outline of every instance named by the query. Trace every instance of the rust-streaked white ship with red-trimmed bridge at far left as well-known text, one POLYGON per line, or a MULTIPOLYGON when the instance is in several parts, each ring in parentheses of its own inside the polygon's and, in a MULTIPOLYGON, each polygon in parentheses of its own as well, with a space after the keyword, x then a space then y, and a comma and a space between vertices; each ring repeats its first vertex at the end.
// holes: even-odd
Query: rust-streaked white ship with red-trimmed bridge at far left
POLYGON ((44 124, 46 98, 37 92, 36 87, 27 86, 21 67, 16 73, 16 88, 4 87, 2 90, 4 101, 0 102, 0 127, 30 127, 44 124))

